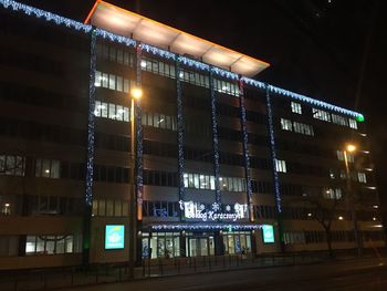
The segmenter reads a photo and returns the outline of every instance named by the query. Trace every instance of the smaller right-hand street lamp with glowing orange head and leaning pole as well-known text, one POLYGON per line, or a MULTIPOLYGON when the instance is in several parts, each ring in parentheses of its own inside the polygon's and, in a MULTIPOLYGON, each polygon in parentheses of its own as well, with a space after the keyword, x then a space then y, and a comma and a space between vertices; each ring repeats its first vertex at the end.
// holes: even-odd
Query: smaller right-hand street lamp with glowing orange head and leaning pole
POLYGON ((356 218, 355 197, 354 197, 354 193, 352 189, 352 180, 351 180, 352 177, 351 177, 349 164, 348 164, 348 153, 355 153, 355 152, 356 152, 356 146, 354 146, 352 144, 347 144, 345 149, 344 149, 344 162, 345 162, 346 178, 347 178, 346 199, 347 199, 347 202, 349 202, 352 221, 354 224, 354 239, 355 239, 355 243, 356 243, 357 256, 360 257, 363 254, 363 248, 362 248, 362 243, 360 243, 360 237, 358 233, 359 231, 358 231, 357 218, 356 218))

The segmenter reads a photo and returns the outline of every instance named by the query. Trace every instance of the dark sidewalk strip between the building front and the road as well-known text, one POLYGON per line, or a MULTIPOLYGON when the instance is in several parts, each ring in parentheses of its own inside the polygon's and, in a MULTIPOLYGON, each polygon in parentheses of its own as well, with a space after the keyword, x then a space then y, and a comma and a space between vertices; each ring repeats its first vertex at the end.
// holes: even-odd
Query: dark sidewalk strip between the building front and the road
MULTIPOLYGON (((368 256, 367 256, 368 257, 368 256)), ((336 260, 354 258, 342 256, 336 260)), ((375 258, 375 257, 374 257, 375 258)), ((135 279, 171 277, 190 273, 221 272, 238 269, 257 269, 283 266, 301 266, 327 261, 326 253, 289 253, 268 256, 211 256, 144 260, 135 269, 135 279)), ((7 272, 0 276, 1 291, 59 289, 76 285, 128 281, 127 264, 97 264, 88 270, 81 267, 38 269, 7 272)))

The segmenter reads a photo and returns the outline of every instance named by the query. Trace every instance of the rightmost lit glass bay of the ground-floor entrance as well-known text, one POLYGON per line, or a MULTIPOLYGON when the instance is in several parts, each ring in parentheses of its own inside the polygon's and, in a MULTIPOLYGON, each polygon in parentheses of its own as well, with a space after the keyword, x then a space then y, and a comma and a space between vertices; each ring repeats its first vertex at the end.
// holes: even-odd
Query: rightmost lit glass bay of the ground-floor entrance
POLYGON ((224 231, 223 232, 224 254, 251 252, 250 231, 224 231))

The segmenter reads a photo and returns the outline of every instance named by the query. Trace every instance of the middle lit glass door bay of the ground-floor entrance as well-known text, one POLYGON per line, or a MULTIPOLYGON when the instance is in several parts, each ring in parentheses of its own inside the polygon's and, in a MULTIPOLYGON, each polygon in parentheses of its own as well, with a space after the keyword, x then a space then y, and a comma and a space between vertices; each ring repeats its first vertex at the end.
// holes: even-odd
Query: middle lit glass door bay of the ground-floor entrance
POLYGON ((186 238, 186 253, 188 257, 202 257, 215 254, 213 235, 201 236, 188 233, 186 238))

